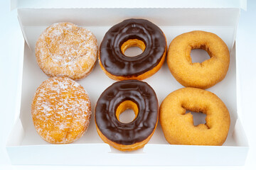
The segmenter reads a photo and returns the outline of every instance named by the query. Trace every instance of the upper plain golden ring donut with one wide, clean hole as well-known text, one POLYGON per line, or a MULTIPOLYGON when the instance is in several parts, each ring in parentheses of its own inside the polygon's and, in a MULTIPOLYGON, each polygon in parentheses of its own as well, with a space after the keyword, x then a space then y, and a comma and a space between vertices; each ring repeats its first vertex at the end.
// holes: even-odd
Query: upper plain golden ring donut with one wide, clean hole
POLYGON ((218 35, 201 30, 178 35, 171 41, 167 64, 183 86, 208 89, 225 78, 230 63, 228 47, 218 35), (202 49, 210 59, 192 63, 191 50, 202 49))

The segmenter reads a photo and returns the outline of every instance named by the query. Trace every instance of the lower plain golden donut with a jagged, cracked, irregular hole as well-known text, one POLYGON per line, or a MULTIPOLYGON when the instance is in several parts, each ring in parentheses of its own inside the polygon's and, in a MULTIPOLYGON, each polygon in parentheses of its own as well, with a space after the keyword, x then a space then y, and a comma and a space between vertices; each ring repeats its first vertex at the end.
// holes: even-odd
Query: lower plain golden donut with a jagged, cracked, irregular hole
POLYGON ((159 121, 172 145, 223 145, 230 128, 230 114, 223 101, 210 91, 186 87, 161 103, 159 121), (206 114, 206 124, 193 125, 186 110, 206 114))

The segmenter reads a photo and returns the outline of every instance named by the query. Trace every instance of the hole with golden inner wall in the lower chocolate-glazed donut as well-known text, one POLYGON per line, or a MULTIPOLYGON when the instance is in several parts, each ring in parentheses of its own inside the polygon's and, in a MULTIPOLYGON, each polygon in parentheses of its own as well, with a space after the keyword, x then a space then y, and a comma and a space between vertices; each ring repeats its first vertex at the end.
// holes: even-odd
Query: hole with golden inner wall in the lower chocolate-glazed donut
POLYGON ((139 113, 139 108, 133 101, 123 101, 116 111, 117 120, 120 123, 131 123, 139 113))

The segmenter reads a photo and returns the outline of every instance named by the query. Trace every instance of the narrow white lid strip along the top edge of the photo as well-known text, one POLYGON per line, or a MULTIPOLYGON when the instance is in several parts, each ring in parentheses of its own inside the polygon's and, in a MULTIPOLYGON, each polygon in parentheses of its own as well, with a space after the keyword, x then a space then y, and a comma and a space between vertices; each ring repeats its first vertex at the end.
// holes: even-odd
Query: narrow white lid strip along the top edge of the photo
POLYGON ((14 8, 242 8, 246 10, 246 0, 11 0, 14 8))

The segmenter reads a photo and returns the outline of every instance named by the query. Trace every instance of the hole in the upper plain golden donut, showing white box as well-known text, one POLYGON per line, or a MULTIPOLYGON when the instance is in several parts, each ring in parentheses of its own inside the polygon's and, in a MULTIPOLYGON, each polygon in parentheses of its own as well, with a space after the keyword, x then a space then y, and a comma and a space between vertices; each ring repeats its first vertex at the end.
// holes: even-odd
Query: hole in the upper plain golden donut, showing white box
POLYGON ((196 62, 202 63, 209 59, 210 59, 210 55, 206 50, 200 49, 200 48, 191 50, 192 63, 196 63, 196 62))

